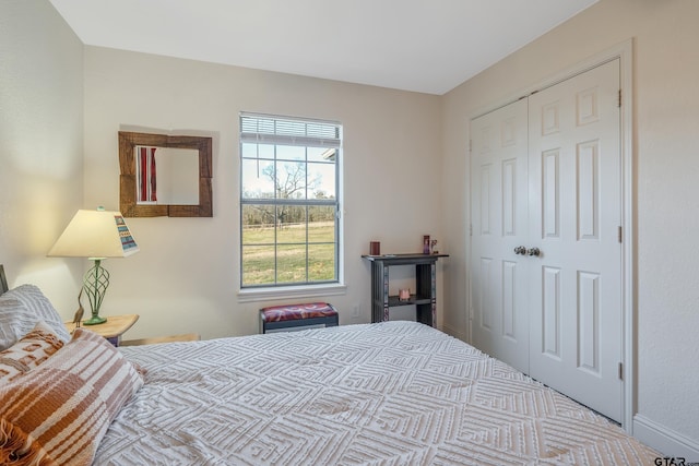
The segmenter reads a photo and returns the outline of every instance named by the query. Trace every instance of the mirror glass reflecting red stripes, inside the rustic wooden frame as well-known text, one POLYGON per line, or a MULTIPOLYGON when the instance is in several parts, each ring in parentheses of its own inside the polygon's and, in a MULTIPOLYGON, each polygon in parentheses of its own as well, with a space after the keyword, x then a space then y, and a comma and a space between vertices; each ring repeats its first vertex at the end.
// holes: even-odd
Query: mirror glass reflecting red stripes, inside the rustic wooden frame
POLYGON ((199 151, 135 146, 139 205, 199 204, 199 151))

